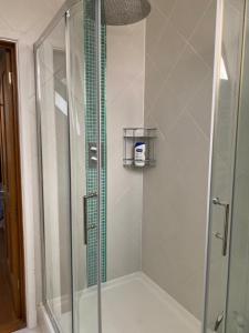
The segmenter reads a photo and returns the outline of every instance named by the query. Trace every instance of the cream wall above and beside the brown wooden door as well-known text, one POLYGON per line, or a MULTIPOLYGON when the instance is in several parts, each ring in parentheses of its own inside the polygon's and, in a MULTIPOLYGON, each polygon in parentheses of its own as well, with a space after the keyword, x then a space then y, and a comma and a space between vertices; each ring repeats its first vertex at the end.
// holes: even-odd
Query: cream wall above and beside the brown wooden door
POLYGON ((24 223, 27 320, 37 324, 41 300, 38 151, 33 42, 62 4, 62 0, 0 0, 0 38, 18 41, 19 122, 24 223), (35 285, 38 287, 35 287, 35 285))

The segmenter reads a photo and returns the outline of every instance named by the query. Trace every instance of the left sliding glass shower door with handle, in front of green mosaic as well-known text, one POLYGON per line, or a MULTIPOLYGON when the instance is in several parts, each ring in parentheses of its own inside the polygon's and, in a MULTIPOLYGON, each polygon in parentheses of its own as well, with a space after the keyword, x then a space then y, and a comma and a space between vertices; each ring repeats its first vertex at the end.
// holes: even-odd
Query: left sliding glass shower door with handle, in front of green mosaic
POLYGON ((93 2, 79 2, 68 18, 74 332, 80 333, 98 332, 93 2))

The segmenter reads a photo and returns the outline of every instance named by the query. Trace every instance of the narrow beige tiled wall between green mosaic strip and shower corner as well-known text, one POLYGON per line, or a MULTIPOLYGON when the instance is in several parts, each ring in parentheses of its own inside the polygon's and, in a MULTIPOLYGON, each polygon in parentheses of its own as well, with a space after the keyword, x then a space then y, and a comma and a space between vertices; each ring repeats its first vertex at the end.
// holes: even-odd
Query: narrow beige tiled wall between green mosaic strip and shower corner
POLYGON ((143 172, 123 167, 123 128, 144 125, 145 21, 107 27, 107 280, 141 270, 143 172))

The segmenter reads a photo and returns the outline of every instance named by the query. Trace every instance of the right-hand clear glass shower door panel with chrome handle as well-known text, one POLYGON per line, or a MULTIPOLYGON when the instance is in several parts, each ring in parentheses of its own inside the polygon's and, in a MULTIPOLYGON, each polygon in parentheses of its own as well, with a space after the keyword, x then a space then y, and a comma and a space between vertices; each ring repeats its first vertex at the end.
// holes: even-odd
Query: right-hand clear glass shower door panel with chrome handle
MULTIPOLYGON (((222 332, 227 295, 228 253, 224 253, 226 209, 231 203, 235 133, 239 98, 243 1, 224 1, 221 57, 216 91, 216 115, 210 196, 210 243, 207 295, 207 326, 222 332), (215 198, 220 203, 212 202, 215 198)), ((221 12, 220 12, 221 14, 221 12)), ((221 19, 221 17, 220 17, 221 19)), ((227 220, 229 222, 229 219, 227 220)), ((228 232, 229 234, 229 232, 228 232)), ((228 240, 229 241, 229 240, 228 240)))

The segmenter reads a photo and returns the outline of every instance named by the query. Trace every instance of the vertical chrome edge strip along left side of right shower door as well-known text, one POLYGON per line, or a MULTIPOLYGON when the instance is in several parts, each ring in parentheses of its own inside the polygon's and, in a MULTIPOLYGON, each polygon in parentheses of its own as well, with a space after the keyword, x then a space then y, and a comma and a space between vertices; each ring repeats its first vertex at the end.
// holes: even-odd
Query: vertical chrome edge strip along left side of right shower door
POLYGON ((211 125, 210 125, 210 150, 209 150, 209 171, 208 171, 208 191, 207 191, 207 220, 206 220, 206 251, 205 251, 205 290, 204 290, 204 314, 201 332, 207 333, 208 305, 209 305, 209 273, 210 273, 210 250, 211 250, 211 189, 212 189, 212 167, 215 137, 217 124, 217 109, 219 99, 219 73, 222 47, 222 23, 224 23, 224 1, 217 0, 216 12, 216 40, 215 40, 215 65, 212 82, 212 105, 211 105, 211 125))

